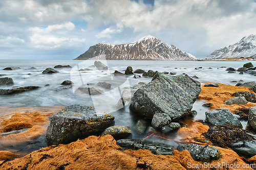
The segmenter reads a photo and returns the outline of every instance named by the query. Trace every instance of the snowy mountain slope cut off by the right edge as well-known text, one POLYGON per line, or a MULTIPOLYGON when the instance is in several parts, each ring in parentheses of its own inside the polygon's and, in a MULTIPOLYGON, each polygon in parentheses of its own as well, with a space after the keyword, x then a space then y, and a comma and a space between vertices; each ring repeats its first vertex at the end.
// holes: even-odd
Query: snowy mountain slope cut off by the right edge
POLYGON ((219 48, 207 56, 207 59, 250 57, 256 54, 256 36, 250 35, 239 42, 219 48))

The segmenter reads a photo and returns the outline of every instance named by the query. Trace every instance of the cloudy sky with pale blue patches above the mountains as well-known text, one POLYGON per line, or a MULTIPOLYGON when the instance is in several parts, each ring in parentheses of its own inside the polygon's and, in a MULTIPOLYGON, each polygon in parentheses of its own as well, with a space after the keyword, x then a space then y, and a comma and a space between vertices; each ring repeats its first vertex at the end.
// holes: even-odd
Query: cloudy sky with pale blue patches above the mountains
POLYGON ((197 58, 256 34, 256 0, 1 0, 0 60, 72 60, 152 35, 197 58))

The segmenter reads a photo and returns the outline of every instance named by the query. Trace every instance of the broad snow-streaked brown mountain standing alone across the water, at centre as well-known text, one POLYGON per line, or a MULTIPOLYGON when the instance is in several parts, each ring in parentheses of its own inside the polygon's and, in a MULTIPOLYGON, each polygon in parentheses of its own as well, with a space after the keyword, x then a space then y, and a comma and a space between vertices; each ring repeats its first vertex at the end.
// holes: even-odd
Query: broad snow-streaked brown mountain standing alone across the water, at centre
POLYGON ((166 44, 151 35, 125 44, 98 43, 74 60, 87 60, 105 54, 106 60, 193 60, 176 46, 166 44))

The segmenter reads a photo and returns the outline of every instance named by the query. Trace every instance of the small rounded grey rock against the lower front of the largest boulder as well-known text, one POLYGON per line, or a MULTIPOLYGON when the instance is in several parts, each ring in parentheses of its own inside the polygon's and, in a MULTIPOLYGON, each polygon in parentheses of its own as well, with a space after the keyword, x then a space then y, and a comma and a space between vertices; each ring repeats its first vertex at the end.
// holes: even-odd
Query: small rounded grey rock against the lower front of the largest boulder
POLYGON ((171 122, 172 122, 172 119, 170 118, 170 116, 168 114, 166 114, 166 113, 155 113, 153 118, 152 118, 151 125, 155 129, 160 129, 160 128, 170 124, 171 122))

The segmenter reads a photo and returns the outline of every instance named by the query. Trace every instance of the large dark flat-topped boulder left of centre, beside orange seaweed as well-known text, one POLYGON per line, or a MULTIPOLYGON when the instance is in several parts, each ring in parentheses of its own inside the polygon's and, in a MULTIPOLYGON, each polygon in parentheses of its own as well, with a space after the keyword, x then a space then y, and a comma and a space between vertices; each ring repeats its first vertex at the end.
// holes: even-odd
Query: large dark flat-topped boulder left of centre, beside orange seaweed
POLYGON ((90 106, 71 105, 49 117, 46 131, 49 145, 67 144, 78 138, 100 135, 114 123, 114 117, 90 106))

